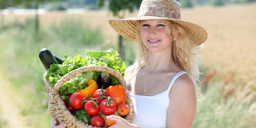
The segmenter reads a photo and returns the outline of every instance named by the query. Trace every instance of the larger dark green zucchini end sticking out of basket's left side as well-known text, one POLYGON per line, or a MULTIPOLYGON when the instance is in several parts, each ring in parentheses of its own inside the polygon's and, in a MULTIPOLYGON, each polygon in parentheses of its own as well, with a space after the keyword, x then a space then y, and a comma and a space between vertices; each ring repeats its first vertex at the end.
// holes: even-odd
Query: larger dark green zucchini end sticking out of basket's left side
POLYGON ((53 56, 52 52, 47 48, 40 50, 39 58, 46 70, 49 69, 53 63, 58 64, 58 61, 53 56))

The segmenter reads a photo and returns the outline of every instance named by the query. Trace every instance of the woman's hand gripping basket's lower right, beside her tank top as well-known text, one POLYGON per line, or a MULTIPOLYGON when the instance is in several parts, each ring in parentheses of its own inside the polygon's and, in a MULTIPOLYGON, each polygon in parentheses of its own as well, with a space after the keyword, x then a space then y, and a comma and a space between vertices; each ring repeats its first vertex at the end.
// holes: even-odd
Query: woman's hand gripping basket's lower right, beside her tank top
POLYGON ((112 125, 109 128, 118 128, 118 127, 134 127, 134 128, 138 128, 138 126, 131 124, 129 122, 127 122, 127 120, 125 120, 124 118, 120 117, 120 116, 115 116, 115 115, 109 115, 106 118, 108 118, 108 120, 116 120, 116 124, 112 125))

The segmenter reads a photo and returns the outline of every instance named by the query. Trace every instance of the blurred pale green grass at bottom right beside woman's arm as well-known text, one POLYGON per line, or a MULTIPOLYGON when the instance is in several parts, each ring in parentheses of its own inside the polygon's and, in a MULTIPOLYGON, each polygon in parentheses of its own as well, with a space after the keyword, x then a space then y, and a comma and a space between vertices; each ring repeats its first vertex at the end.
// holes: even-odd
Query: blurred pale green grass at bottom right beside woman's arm
POLYGON ((256 122, 255 92, 245 86, 227 84, 221 89, 220 80, 207 84, 208 89, 198 100, 193 127, 228 128, 254 127, 256 122), (234 89, 228 96, 227 92, 234 89))

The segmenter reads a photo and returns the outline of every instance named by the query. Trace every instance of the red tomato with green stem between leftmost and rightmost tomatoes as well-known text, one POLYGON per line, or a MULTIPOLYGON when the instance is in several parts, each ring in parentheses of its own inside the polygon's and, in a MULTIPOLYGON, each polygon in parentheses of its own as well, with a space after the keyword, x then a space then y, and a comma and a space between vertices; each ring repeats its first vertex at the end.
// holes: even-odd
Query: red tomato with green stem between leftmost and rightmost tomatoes
POLYGON ((96 106, 97 106, 96 107, 93 104, 95 104, 95 101, 90 100, 90 101, 86 102, 86 104, 84 105, 85 113, 90 115, 90 116, 97 115, 100 111, 99 105, 96 104, 96 106))

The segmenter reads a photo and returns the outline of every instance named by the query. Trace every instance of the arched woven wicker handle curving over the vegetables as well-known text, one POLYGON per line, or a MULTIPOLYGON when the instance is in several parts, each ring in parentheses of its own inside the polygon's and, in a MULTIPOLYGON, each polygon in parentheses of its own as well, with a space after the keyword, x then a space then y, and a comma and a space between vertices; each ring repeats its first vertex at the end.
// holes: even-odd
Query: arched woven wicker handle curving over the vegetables
POLYGON ((116 77, 120 84, 125 88, 125 80, 124 77, 120 73, 118 73, 116 70, 109 68, 109 67, 100 67, 100 66, 93 66, 93 67, 80 67, 75 70, 72 70, 71 72, 68 72, 68 74, 65 74, 65 76, 61 77, 61 79, 54 85, 52 88, 52 94, 58 93, 58 90, 60 87, 68 81, 73 76, 76 76, 77 74, 81 74, 83 72, 90 72, 90 71, 97 71, 97 72, 106 72, 108 74, 111 74, 112 76, 116 77))

